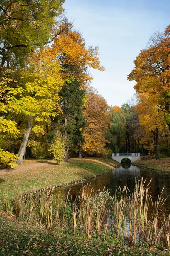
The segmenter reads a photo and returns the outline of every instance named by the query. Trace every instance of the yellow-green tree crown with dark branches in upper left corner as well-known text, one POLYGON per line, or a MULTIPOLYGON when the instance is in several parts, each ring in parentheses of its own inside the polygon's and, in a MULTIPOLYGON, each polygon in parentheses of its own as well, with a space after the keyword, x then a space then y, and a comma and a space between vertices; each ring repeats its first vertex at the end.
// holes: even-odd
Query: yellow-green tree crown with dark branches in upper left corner
MULTIPOLYGON (((64 0, 3 0, 0 4, 1 67, 12 68, 59 34, 64 0)), ((61 28, 62 31, 62 28, 61 28)))

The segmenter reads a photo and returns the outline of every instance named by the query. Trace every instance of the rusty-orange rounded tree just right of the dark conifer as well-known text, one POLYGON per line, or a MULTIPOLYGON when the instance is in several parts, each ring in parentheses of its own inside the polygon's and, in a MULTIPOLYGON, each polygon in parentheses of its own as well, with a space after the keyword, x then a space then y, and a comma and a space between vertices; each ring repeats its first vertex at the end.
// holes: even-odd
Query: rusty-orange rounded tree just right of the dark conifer
POLYGON ((82 150, 88 154, 107 155, 105 134, 110 126, 108 104, 92 88, 88 90, 84 116, 87 124, 84 128, 82 150))

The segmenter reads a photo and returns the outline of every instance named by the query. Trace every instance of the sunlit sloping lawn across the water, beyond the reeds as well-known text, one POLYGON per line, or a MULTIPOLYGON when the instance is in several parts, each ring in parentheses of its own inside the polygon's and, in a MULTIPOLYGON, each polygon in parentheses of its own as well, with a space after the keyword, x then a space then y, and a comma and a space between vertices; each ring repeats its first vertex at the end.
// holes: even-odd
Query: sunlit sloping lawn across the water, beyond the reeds
POLYGON ((20 186, 22 191, 27 191, 33 186, 39 189, 47 184, 53 186, 92 177, 117 166, 116 161, 112 159, 98 158, 73 158, 59 166, 53 160, 24 160, 23 166, 0 174, 0 199, 3 199, 6 192, 11 194, 16 186, 20 186))

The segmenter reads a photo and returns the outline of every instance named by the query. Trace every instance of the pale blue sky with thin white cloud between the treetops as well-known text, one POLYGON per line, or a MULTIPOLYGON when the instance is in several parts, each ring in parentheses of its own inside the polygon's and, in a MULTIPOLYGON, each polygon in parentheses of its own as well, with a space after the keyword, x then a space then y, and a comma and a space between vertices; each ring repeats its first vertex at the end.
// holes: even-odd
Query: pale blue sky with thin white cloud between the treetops
POLYGON ((63 7, 86 46, 99 47, 106 71, 91 70, 91 85, 108 105, 121 106, 135 94, 135 82, 127 80, 133 61, 150 35, 170 24, 169 0, 65 0, 63 7))

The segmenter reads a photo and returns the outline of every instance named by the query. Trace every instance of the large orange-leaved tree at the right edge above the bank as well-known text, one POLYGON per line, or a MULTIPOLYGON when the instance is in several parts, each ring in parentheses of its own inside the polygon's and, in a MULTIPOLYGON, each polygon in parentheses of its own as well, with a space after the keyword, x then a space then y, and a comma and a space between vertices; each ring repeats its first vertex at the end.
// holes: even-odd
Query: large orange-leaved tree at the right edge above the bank
MULTIPOLYGON (((129 74, 136 81, 135 89, 139 103, 136 110, 144 131, 142 144, 155 151, 158 158, 159 144, 168 151, 170 136, 170 26, 164 32, 151 36, 147 49, 143 49, 134 61, 135 67, 129 74), (169 131, 168 131, 169 130, 169 131)), ((161 153, 161 152, 160 152, 161 153)))

